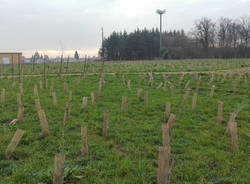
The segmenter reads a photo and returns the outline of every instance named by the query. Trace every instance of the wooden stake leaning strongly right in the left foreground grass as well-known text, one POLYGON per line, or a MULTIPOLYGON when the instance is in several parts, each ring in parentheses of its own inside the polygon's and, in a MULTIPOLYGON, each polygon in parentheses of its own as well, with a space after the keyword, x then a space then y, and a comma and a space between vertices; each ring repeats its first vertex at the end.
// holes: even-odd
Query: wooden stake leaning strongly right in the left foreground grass
POLYGON ((13 152, 15 151, 18 143, 20 142, 21 138, 23 137, 23 134, 24 134, 23 130, 17 129, 15 135, 11 139, 11 142, 5 151, 5 156, 7 159, 10 159, 13 156, 13 152))

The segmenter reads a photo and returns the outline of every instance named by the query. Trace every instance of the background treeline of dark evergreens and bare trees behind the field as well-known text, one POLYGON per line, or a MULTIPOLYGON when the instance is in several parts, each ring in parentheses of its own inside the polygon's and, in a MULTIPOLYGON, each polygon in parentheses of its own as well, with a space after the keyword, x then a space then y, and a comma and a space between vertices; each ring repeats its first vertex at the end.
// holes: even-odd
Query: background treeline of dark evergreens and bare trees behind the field
POLYGON ((244 58, 250 57, 250 16, 236 20, 220 18, 214 22, 202 18, 192 31, 163 32, 163 49, 159 53, 159 30, 136 29, 127 33, 113 32, 104 39, 99 54, 108 60, 142 60, 159 56, 184 58, 244 58))

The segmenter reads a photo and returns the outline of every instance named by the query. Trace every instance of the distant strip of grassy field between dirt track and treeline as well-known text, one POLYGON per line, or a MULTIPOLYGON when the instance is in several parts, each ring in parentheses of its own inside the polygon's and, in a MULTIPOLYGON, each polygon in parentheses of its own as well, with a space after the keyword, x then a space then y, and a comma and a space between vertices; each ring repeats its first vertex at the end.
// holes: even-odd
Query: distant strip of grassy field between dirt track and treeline
MULTIPOLYGON (((79 63, 62 64, 62 73, 98 73, 101 70, 100 62, 80 60, 79 63)), ((45 71, 47 74, 58 74, 60 72, 60 62, 46 62, 45 71)), ((218 71, 236 68, 250 67, 250 59, 203 59, 203 60, 168 60, 168 61, 108 61, 105 62, 104 71, 111 72, 192 72, 192 71, 218 71)), ((18 75, 19 65, 0 66, 2 75, 18 75)), ((25 64, 23 74, 43 74, 44 64, 25 64)))

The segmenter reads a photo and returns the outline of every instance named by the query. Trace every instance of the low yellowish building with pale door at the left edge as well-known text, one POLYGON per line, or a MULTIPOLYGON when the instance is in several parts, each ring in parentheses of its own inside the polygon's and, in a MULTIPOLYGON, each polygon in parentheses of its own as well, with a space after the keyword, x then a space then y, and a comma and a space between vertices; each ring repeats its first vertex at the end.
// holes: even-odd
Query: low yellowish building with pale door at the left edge
POLYGON ((23 62, 21 52, 0 52, 0 64, 19 64, 23 62))

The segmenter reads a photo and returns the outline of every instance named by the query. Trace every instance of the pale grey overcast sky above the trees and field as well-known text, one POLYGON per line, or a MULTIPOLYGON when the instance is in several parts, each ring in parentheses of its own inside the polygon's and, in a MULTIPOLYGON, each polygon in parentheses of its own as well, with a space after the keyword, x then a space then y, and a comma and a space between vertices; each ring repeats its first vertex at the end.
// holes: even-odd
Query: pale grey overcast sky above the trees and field
POLYGON ((38 50, 59 55, 97 55, 112 31, 159 26, 155 10, 166 9, 163 29, 189 31, 196 19, 250 15, 250 0, 0 0, 0 52, 38 50))

